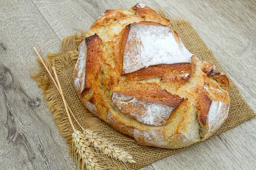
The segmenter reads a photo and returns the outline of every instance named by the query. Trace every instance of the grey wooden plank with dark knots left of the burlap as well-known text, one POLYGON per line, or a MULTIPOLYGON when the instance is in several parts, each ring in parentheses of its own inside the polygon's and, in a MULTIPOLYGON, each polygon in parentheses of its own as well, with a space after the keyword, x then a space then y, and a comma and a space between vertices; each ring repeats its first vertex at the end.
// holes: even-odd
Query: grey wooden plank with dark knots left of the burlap
POLYGON ((35 42, 53 51, 60 40, 31 1, 0 1, 0 169, 72 169, 69 148, 29 77, 35 42))

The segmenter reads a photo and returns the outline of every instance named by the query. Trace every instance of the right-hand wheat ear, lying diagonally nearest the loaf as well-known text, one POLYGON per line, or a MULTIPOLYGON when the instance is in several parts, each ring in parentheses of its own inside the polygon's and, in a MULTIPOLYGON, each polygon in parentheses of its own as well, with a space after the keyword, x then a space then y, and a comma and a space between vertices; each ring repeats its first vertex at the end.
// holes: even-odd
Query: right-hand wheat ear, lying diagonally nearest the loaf
POLYGON ((102 139, 101 137, 97 136, 97 133, 94 133, 93 130, 83 129, 83 134, 85 139, 87 139, 90 144, 99 149, 102 153, 125 163, 136 163, 129 153, 111 144, 111 142, 109 142, 107 139, 102 139))

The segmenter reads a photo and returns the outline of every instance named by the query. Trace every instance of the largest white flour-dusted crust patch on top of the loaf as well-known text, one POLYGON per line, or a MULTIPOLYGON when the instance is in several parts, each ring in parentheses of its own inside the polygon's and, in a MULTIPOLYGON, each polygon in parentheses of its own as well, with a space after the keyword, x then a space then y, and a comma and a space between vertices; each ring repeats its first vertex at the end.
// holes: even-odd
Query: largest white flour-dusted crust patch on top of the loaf
POLYGON ((193 54, 178 44, 168 26, 131 24, 125 46, 123 74, 150 65, 191 62, 193 54))

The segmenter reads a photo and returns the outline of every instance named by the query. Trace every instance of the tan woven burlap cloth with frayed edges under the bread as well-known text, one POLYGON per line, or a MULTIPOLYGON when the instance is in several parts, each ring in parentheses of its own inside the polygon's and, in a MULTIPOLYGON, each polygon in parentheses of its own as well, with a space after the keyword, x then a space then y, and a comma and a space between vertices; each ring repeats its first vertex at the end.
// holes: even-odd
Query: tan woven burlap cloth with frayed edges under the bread
MULTIPOLYGON (((167 17, 161 11, 158 12, 167 17)), ((169 19, 172 29, 179 34, 182 42, 192 54, 196 54, 202 61, 212 62, 217 66, 219 71, 226 74, 224 69, 221 68, 221 66, 218 64, 212 52, 207 48, 207 46, 198 36, 195 29, 192 28, 188 22, 182 19, 169 19)), ((79 120, 80 124, 84 127, 95 130, 104 138, 109 139, 112 143, 124 148, 126 151, 130 152, 132 156, 134 156, 134 160, 137 161, 137 164, 122 164, 119 161, 109 159, 108 167, 115 167, 115 169, 135 170, 158 159, 188 148, 161 149, 157 147, 143 146, 138 144, 133 138, 114 130, 112 127, 93 116, 92 113, 84 108, 79 100, 79 97, 76 95, 72 80, 73 69, 76 64, 76 60, 78 59, 77 47, 83 38, 84 32, 82 31, 80 34, 75 34, 65 38, 61 42, 60 51, 58 53, 48 54, 45 62, 50 71, 52 71, 52 66, 55 66, 61 87, 64 92, 64 97, 67 100, 71 110, 75 114, 76 119, 79 120)), ((64 109, 61 96, 58 94, 57 89, 55 88, 47 74, 47 71, 44 69, 40 61, 38 61, 38 64, 40 66, 40 71, 38 73, 32 74, 31 77, 35 79, 35 81, 38 82, 38 86, 43 89, 43 94, 45 100, 47 101, 49 110, 53 113, 53 119, 55 120, 61 135, 67 139, 67 144, 72 150, 71 139, 73 130, 67 118, 67 113, 64 109)), ((234 82, 231 79, 229 79, 229 81, 230 98, 232 101, 230 105, 229 116, 224 125, 222 125, 221 128, 218 129, 218 131, 216 131, 211 137, 223 133, 224 131, 235 127, 241 122, 256 116, 253 110, 242 98, 234 82)), ((76 122, 74 120, 73 122, 75 127, 79 129, 79 126, 76 124, 76 122)))

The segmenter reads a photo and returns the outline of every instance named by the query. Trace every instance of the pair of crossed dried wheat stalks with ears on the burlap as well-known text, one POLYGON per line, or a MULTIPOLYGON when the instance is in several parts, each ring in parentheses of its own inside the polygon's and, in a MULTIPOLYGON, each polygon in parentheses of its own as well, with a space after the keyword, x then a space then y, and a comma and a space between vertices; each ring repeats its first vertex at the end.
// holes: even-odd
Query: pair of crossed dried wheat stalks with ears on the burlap
POLYGON ((68 106, 64 98, 55 68, 52 67, 52 70, 55 74, 55 79, 57 83, 55 82, 55 79, 52 77, 52 74, 50 73, 49 69, 45 65, 44 60, 38 53, 37 49, 35 47, 33 49, 35 53, 38 55, 38 58, 41 60, 42 64, 44 65, 44 68, 46 69, 47 73, 52 79, 59 94, 61 94, 61 98, 64 102, 64 107, 67 112, 70 125, 72 126, 72 129, 74 131, 72 135, 72 138, 73 138, 72 141, 75 145, 75 153, 78 154, 79 159, 82 159, 83 164, 86 164, 87 170, 99 169, 99 165, 97 164, 98 160, 94 159, 93 151, 92 151, 92 148, 90 148, 90 144, 92 144, 96 149, 98 149, 102 153, 112 156, 114 159, 118 159, 122 162, 136 163, 136 161, 133 160, 133 157, 130 154, 128 154, 126 151, 122 150, 119 147, 114 146, 107 139, 102 139, 101 137, 97 136, 97 133, 94 133, 92 130, 84 129, 84 127, 81 126, 81 124, 76 119, 75 115, 73 114, 72 110, 70 109, 70 107, 68 106), (73 122, 70 118, 70 113, 73 116, 76 123, 79 125, 79 127, 81 127, 81 129, 83 130, 83 133, 75 129, 73 122))

